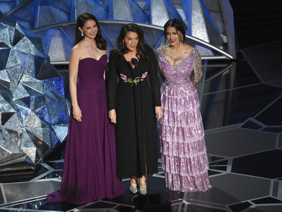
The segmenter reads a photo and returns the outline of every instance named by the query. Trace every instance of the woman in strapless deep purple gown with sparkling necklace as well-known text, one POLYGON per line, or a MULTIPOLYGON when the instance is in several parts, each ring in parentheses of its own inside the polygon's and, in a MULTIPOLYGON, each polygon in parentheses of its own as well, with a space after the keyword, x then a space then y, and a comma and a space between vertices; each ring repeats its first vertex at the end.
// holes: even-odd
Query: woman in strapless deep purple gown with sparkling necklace
POLYGON ((45 203, 91 203, 125 192, 116 176, 115 128, 108 119, 105 87, 107 43, 90 13, 77 18, 70 54, 72 100, 61 188, 45 203), (77 74, 79 79, 77 80, 77 74))

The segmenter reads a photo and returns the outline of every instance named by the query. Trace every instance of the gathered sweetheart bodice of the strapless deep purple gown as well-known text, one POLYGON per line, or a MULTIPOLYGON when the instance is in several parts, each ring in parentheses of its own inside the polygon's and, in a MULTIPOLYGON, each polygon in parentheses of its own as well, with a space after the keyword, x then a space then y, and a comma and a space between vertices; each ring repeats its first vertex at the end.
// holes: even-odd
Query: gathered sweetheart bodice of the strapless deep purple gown
POLYGON ((79 61, 77 81, 78 89, 95 89, 105 87, 104 71, 107 66, 107 55, 102 55, 99 60, 86 57, 79 61))

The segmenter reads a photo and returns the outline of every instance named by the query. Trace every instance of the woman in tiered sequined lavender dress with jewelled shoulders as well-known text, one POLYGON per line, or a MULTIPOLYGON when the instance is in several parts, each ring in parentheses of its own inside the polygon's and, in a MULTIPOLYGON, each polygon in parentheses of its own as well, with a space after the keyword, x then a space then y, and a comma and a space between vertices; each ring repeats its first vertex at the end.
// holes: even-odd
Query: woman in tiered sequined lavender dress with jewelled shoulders
POLYGON ((199 97, 194 85, 202 77, 201 56, 183 43, 182 21, 174 18, 164 25, 168 45, 157 50, 163 116, 160 119, 160 147, 166 186, 176 191, 206 191, 208 176, 204 128, 199 97), (190 80, 194 70, 194 77, 190 80))

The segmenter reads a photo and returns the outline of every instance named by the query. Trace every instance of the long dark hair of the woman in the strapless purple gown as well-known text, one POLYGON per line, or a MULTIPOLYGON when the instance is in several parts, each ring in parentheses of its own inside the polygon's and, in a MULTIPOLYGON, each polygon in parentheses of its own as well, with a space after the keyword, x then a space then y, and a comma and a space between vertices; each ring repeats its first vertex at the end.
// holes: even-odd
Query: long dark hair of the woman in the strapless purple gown
POLYGON ((81 15, 79 15, 77 17, 77 21, 76 21, 76 27, 75 27, 75 40, 74 40, 74 45, 76 45, 77 43, 79 43, 83 37, 81 36, 81 32, 78 29, 78 27, 83 27, 84 23, 87 20, 93 20, 96 22, 97 27, 98 27, 98 31, 95 37, 95 41, 96 41, 96 45, 99 47, 99 49, 101 50, 106 50, 107 49, 107 42, 105 40, 105 38, 103 38, 103 36, 101 35, 101 27, 99 24, 99 21, 97 20, 97 18, 95 16, 93 16, 90 13, 83 13, 81 15))

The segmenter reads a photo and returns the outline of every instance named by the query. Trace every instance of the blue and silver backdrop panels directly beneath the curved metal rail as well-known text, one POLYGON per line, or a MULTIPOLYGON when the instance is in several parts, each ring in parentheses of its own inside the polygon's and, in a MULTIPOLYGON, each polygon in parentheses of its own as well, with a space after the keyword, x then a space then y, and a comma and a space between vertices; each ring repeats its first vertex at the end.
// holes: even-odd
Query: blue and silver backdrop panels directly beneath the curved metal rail
MULTIPOLYGON (((116 46, 116 39, 123 25, 124 23, 108 23, 103 20, 100 21, 102 35, 108 45, 108 56, 110 50, 116 46)), ((141 26, 141 28, 144 31, 145 42, 155 52, 159 46, 168 44, 168 41, 164 40, 162 29, 152 28, 151 25, 141 26)), ((36 31, 35 34, 42 38, 43 47, 46 53, 50 56, 51 61, 69 60, 70 52, 75 40, 75 23, 71 23, 71 25, 64 27, 36 31)), ((186 38, 185 43, 197 48, 201 56, 221 56, 219 52, 213 51, 207 46, 201 45, 192 39, 186 38)))

